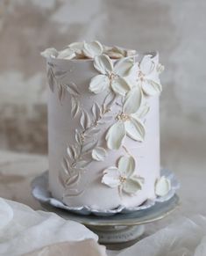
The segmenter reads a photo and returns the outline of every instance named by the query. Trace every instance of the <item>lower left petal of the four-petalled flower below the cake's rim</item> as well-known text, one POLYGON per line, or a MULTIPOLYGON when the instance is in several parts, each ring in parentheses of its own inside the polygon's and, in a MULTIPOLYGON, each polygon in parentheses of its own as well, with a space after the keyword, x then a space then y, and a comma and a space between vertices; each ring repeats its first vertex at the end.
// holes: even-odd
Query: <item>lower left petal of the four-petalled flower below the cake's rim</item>
POLYGON ((107 76, 97 75, 93 77, 89 84, 89 91, 100 93, 110 86, 110 80, 107 76))

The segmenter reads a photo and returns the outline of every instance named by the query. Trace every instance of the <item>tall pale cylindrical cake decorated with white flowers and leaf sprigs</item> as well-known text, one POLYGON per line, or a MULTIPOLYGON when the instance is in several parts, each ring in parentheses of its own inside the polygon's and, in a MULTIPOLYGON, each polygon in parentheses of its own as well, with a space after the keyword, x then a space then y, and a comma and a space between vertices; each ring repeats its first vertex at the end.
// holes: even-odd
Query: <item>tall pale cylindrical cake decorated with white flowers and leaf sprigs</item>
POLYGON ((70 207, 136 207, 163 196, 156 52, 99 41, 47 48, 49 189, 70 207))

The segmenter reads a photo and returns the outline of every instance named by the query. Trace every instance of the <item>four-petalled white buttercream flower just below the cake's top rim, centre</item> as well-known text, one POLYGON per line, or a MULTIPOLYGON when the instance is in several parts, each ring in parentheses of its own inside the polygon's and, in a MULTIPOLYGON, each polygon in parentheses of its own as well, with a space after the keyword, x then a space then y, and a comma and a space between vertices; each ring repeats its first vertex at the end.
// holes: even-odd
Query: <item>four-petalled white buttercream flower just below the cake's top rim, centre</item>
POLYGON ((124 96, 131 89, 124 77, 130 74, 132 66, 131 58, 121 59, 113 65, 107 55, 96 57, 94 67, 101 75, 91 79, 89 90, 97 94, 110 88, 115 93, 124 96))

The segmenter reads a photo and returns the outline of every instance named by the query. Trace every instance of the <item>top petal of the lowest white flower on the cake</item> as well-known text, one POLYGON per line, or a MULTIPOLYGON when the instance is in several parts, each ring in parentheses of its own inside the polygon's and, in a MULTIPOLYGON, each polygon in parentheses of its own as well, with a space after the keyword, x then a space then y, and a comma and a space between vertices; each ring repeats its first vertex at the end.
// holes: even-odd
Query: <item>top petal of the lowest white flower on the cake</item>
POLYGON ((135 170, 135 160, 133 157, 120 157, 118 160, 118 170, 125 177, 130 177, 135 170))

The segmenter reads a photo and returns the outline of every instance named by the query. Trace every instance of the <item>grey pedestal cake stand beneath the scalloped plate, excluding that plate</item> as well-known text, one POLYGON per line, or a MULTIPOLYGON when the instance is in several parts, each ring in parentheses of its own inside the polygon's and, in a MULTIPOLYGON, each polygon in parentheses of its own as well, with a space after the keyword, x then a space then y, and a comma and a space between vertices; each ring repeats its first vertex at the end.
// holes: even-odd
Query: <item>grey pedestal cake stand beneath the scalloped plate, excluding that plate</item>
POLYGON ((84 224, 99 237, 99 243, 110 250, 120 250, 135 244, 143 235, 146 223, 153 223, 169 214, 179 206, 179 197, 174 196, 163 202, 156 202, 153 207, 128 214, 113 216, 79 215, 65 209, 55 208, 40 202, 46 211, 52 211, 67 220, 84 224))

